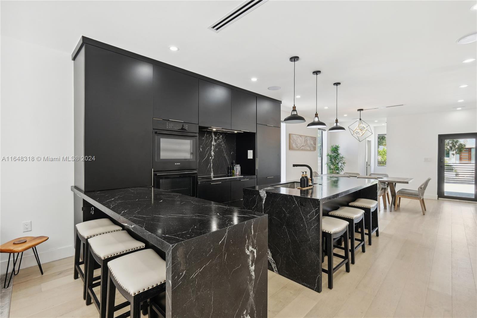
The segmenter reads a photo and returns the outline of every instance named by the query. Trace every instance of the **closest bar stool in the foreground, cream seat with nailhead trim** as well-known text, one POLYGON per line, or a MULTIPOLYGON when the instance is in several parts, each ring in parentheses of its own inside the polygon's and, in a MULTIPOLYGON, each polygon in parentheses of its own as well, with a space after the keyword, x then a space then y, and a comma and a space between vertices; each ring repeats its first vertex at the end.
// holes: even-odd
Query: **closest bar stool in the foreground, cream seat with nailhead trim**
MULTIPOLYGON (((166 262, 152 249, 145 249, 118 257, 108 263, 107 317, 114 318, 116 288, 131 304, 130 317, 140 317, 143 301, 152 310, 166 317, 166 312, 151 298, 166 291, 166 262)), ((125 307, 125 306, 123 306, 125 307)), ((124 314, 121 315, 124 316, 124 314)))

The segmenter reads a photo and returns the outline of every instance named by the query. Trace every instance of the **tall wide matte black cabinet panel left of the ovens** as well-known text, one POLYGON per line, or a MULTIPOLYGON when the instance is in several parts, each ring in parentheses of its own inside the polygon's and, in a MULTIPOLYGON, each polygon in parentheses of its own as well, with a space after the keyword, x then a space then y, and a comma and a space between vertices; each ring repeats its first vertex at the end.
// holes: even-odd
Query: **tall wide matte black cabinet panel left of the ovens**
POLYGON ((151 185, 153 65, 85 49, 84 191, 151 185))

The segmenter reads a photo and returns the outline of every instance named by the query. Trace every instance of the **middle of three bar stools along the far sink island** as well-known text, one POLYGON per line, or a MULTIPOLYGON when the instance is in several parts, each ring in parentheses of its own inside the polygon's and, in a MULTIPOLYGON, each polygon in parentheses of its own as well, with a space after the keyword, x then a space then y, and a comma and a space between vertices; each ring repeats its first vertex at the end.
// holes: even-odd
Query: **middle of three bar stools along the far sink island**
MULTIPOLYGON (((350 225, 348 226, 348 233, 351 239, 351 264, 354 264, 354 252, 360 248, 364 252, 366 252, 365 244, 364 244, 364 210, 352 208, 349 206, 342 206, 338 210, 329 212, 328 215, 338 218, 344 221, 347 221, 350 225), (357 239, 354 237, 354 230, 356 228, 356 224, 359 225, 361 229, 361 239, 357 239), (354 241, 358 241, 358 245, 355 246, 354 241)), ((338 247, 343 249, 341 246, 338 247)))

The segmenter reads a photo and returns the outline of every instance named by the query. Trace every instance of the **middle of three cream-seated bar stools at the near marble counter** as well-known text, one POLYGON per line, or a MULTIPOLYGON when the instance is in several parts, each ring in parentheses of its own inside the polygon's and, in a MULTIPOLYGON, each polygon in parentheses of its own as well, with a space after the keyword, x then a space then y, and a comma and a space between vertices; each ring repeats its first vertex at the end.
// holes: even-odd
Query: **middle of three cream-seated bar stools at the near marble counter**
POLYGON ((112 261, 123 254, 130 254, 135 250, 144 248, 145 244, 135 240, 126 231, 118 231, 95 236, 90 238, 88 243, 89 251, 86 270, 86 305, 90 305, 93 300, 94 305, 96 308, 98 308, 100 318, 105 318, 107 297, 106 286, 108 285, 108 271, 106 265, 109 261, 112 261), (94 261, 101 266, 101 279, 96 283, 93 283, 94 261), (101 286, 100 299, 98 299, 93 291, 93 288, 96 286, 101 286))

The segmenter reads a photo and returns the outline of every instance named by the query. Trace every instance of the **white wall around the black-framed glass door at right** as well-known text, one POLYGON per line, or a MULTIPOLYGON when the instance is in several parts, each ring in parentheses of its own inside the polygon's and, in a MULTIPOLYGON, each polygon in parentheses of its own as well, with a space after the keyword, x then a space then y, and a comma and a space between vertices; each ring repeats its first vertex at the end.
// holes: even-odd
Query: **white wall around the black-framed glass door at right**
POLYGON ((476 109, 387 118, 387 173, 414 178, 399 188, 416 189, 432 178, 425 197, 437 199, 437 136, 477 131, 476 109), (424 162, 431 158, 431 162, 424 162))

